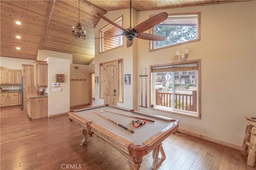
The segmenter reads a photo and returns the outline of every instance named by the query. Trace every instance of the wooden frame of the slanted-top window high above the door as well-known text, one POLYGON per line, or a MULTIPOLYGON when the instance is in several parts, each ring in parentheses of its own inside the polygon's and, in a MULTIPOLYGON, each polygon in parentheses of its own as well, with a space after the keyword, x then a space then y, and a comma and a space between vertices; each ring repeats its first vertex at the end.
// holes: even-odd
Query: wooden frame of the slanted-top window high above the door
MULTIPOLYGON (((118 22, 122 22, 122 25, 120 25, 120 26, 123 26, 123 15, 122 16, 120 16, 120 17, 118 17, 118 18, 116 18, 115 20, 114 20, 114 22, 115 23, 118 23, 118 22)), ((112 27, 115 27, 114 25, 112 25, 112 24, 108 24, 108 25, 105 25, 104 27, 102 27, 101 29, 99 29, 99 37, 103 37, 103 33, 105 32, 105 31, 108 31, 108 29, 111 29, 112 27)), ((121 33, 122 33, 122 30, 121 30, 121 33)), ((114 32, 113 33, 114 35, 118 35, 118 34, 120 34, 119 32, 117 33, 117 32, 114 32)), ((107 51, 111 51, 111 50, 113 50, 113 49, 117 49, 117 48, 119 48, 119 47, 123 47, 123 36, 122 35, 120 35, 120 45, 118 45, 117 47, 114 47, 114 48, 111 48, 111 49, 108 49, 108 50, 106 50, 106 51, 104 51, 104 38, 100 38, 99 39, 100 40, 100 43, 99 43, 99 45, 100 45, 100 48, 99 48, 99 52, 100 52, 100 54, 101 53, 105 53, 105 52, 107 52, 107 51)))

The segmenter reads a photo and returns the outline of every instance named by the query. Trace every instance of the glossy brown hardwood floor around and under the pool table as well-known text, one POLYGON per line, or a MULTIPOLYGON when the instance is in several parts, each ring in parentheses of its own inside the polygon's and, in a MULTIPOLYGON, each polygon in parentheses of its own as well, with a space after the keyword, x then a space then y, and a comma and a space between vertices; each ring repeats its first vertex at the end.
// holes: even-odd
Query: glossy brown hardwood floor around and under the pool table
MULTIPOLYGON (((72 108, 74 109, 74 108, 72 108)), ((93 135, 80 146, 79 125, 68 115, 29 120, 20 107, 1 108, 1 170, 128 170, 127 158, 93 135)), ((163 142, 161 170, 255 170, 247 157, 232 149, 184 133, 163 142)), ((150 170, 152 152, 141 170, 150 170)))

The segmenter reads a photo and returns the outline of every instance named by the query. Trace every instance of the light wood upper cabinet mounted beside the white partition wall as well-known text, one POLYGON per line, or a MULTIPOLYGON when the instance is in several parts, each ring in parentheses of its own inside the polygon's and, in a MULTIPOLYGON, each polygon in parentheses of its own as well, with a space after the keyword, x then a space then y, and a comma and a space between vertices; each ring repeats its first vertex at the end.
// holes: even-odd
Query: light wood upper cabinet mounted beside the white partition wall
POLYGON ((34 61, 34 86, 48 86, 48 63, 46 61, 34 61))

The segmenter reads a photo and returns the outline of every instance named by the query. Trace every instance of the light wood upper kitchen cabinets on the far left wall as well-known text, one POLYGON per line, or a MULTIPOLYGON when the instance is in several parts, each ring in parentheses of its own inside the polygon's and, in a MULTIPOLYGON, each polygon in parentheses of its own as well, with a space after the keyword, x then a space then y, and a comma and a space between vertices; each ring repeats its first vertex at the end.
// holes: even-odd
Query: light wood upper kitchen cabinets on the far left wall
POLYGON ((0 84, 19 84, 22 70, 0 70, 0 84))

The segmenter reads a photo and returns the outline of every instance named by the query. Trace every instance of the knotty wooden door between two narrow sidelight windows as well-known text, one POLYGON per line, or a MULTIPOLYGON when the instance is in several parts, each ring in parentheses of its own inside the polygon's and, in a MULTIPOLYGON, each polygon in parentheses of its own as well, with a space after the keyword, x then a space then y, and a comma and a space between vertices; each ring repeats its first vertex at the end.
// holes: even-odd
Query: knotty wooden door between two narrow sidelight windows
POLYGON ((104 104, 117 106, 116 103, 116 61, 104 64, 104 104))

